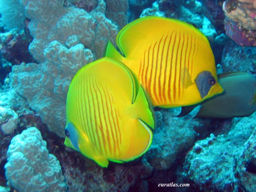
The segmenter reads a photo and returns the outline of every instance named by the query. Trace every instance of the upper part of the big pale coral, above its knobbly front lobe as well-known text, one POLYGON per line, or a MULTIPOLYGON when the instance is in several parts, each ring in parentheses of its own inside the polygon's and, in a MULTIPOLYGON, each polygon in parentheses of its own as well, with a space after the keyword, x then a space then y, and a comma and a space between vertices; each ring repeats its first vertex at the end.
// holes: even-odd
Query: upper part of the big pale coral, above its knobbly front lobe
POLYGON ((62 1, 52 2, 49 7, 50 2, 22 0, 26 16, 31 20, 28 28, 34 37, 29 50, 37 61, 44 62, 42 50, 54 40, 68 47, 81 43, 94 53, 95 58, 102 57, 102 45, 107 40, 115 41, 117 28, 106 19, 103 0, 90 13, 74 6, 66 8, 62 1))

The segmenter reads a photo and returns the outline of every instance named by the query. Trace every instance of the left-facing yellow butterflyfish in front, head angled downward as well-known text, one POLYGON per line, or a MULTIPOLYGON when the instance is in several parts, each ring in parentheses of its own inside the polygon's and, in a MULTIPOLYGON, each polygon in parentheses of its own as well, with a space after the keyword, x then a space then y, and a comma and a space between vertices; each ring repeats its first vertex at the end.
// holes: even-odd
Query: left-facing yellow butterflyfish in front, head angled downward
POLYGON ((152 142, 150 128, 154 118, 144 90, 124 64, 102 58, 74 76, 66 103, 66 146, 107 167, 108 160, 121 163, 144 154, 152 142))

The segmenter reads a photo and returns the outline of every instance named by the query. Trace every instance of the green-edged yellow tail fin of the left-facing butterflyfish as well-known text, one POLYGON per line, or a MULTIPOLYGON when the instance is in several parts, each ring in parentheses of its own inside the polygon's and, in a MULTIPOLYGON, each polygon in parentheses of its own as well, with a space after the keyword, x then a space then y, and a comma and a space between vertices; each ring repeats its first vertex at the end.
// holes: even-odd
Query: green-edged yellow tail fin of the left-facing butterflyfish
POLYGON ((152 111, 152 105, 141 85, 133 105, 137 112, 136 118, 141 119, 147 126, 154 129, 154 113, 152 111))

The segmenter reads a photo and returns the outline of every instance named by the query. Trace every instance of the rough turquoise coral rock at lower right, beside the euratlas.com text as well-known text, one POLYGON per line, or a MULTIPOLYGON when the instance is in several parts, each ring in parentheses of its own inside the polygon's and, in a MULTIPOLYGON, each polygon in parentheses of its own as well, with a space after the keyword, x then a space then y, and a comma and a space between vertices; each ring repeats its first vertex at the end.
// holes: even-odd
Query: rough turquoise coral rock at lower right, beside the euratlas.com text
POLYGON ((244 185, 250 188, 256 176, 247 174, 244 180, 250 182, 242 183, 239 174, 246 176, 245 169, 238 165, 243 160, 244 144, 256 126, 255 118, 256 113, 236 118, 226 135, 211 134, 196 142, 186 156, 184 176, 202 191, 239 191, 244 185))

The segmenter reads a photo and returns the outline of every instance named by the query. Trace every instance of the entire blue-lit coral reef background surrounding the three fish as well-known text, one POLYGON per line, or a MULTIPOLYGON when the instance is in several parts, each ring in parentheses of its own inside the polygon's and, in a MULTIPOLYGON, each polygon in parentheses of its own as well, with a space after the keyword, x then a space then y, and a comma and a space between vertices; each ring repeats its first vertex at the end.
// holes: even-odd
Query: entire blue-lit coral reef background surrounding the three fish
POLYGON ((53 185, 60 191, 254 191, 256 113, 202 120, 193 118, 197 108, 178 118, 179 109, 156 107, 157 128, 148 152, 132 162, 110 162, 107 169, 66 148, 62 136, 72 77, 102 57, 108 40, 115 44, 128 18, 158 15, 189 22, 208 37, 218 73, 244 71, 256 77, 255 47, 238 45, 255 43, 255 0, 20 2, 9 0, 0 8, 2 25, 10 30, 0 34, 0 192, 26 191, 20 187, 33 184, 36 191, 57 191, 53 185), (238 44, 222 34, 224 24, 238 44), (26 168, 34 173, 22 177, 26 168), (36 177, 41 182, 28 182, 36 177), (158 187, 171 182, 190 187, 158 187))

